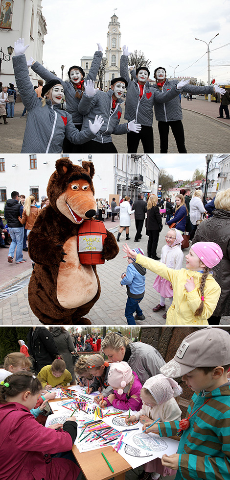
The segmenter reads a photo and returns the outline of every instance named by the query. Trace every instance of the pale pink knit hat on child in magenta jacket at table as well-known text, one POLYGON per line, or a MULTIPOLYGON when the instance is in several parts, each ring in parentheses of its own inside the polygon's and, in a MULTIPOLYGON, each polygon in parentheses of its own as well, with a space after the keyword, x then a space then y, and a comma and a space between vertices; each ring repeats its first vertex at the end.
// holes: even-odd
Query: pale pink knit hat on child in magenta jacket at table
POLYGON ((127 362, 111 363, 108 374, 108 383, 122 395, 124 388, 133 378, 132 368, 127 362))

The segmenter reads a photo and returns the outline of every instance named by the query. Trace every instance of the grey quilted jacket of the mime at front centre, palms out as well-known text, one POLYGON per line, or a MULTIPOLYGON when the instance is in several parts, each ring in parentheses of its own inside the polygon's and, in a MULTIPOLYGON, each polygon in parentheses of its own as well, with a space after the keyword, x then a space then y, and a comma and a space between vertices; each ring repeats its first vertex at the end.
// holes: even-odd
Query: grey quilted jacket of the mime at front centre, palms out
POLYGON ((93 120, 95 115, 102 115, 104 124, 100 128, 99 132, 92 139, 98 143, 112 142, 111 134, 121 135, 128 133, 127 124, 119 125, 122 109, 120 104, 123 100, 118 99, 112 115, 110 115, 112 108, 112 95, 113 90, 108 92, 98 91, 94 97, 89 97, 86 93, 83 93, 81 101, 78 106, 78 110, 84 116, 82 128, 85 128, 89 124, 89 120, 93 120))

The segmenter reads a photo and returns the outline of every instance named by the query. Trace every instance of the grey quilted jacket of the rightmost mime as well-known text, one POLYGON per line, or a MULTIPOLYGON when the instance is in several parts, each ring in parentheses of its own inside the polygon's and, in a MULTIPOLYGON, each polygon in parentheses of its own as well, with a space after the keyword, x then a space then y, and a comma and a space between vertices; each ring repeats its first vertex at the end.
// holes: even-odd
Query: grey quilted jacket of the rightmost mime
MULTIPOLYGON (((153 85, 152 88, 154 91, 167 92, 171 91, 172 88, 175 88, 175 85, 179 83, 178 80, 168 80, 166 78, 165 83, 163 84, 162 90, 159 89, 157 85, 153 85)), ((207 85, 205 87, 199 87, 197 85, 185 85, 183 87, 183 92, 192 93, 194 95, 199 95, 205 93, 213 93, 213 86, 207 85)), ((182 108, 180 98, 176 97, 167 103, 155 103, 154 104, 154 113, 156 120, 161 122, 173 122, 175 120, 182 120, 182 108)))

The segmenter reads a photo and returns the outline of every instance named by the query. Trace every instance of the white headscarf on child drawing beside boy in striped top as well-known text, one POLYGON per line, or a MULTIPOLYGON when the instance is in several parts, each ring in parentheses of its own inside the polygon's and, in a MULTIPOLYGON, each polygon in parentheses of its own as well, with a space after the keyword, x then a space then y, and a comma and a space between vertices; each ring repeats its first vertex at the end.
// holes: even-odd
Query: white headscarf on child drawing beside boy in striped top
POLYGON ((178 397, 183 392, 176 380, 165 377, 162 374, 146 380, 143 388, 146 388, 151 393, 158 405, 167 402, 172 397, 178 397))

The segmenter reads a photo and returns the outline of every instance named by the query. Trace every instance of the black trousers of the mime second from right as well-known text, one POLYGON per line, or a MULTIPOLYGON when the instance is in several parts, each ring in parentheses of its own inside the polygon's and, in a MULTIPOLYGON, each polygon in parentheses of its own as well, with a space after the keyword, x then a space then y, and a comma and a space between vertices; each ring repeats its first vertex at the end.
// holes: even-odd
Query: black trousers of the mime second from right
POLYGON ((139 141, 143 145, 144 153, 154 153, 152 126, 141 125, 140 132, 127 134, 128 153, 137 153, 139 141))

